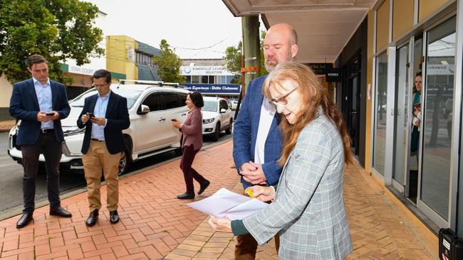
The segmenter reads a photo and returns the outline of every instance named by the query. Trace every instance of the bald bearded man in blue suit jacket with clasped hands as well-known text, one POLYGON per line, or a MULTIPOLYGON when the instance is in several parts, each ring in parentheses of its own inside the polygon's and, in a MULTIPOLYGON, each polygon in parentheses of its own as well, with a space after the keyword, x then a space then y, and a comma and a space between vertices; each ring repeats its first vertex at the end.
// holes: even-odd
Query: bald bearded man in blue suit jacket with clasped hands
MULTIPOLYGON (((286 23, 269 28, 264 38, 265 67, 270 72, 279 63, 296 59, 298 52, 296 31, 286 23)), ((241 104, 234 124, 233 158, 246 189, 251 185, 273 186, 279 182, 283 139, 279 118, 270 100, 262 94, 267 75, 251 80, 246 98, 241 104)), ((275 237, 276 251, 279 237, 275 237)), ((250 234, 236 237, 235 259, 255 259, 257 242, 250 234)))

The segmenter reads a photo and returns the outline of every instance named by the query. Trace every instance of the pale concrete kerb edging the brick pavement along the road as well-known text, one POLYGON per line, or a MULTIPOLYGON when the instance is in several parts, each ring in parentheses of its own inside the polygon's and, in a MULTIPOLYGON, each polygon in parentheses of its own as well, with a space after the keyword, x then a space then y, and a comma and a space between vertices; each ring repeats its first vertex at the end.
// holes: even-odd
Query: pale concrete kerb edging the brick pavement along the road
MULTIPOLYGON (((227 143, 228 141, 232 141, 232 140, 231 140, 231 139, 225 139, 225 140, 222 140, 222 141, 216 141, 216 142, 211 143, 211 144, 209 144, 209 145, 207 145, 207 146, 203 146, 203 147, 201 148, 201 151, 206 151, 206 150, 209 149, 209 148, 213 148, 213 147, 215 147, 215 146, 219 146, 219 145, 221 145, 222 143, 227 143)), ((231 155, 230 155, 230 156, 231 156, 231 155)), ((147 171, 147 170, 151 170, 152 168, 157 168, 157 167, 159 167, 159 166, 163 166, 163 165, 165 165, 165 164, 167 164, 167 163, 171 163, 172 161, 177 161, 177 160, 179 160, 181 157, 182 157, 182 156, 177 156, 177 157, 171 158, 171 159, 169 159, 169 160, 167 160, 167 161, 162 161, 162 162, 160 162, 160 163, 156 163, 155 165, 147 166, 147 167, 145 167, 145 168, 141 168, 140 170, 135 170, 135 171, 133 171, 133 172, 131 172, 131 173, 127 173, 127 174, 124 174, 124 175, 122 175, 122 176, 119 176, 119 179, 120 179, 120 180, 123 180, 123 179, 128 178, 128 177, 130 177, 130 176, 132 176, 132 175, 136 175, 136 174, 138 174, 138 173, 142 173, 142 172, 145 172, 145 171, 147 171)), ((101 183, 101 185, 105 185, 105 184, 106 184, 106 182, 104 182, 104 181, 103 181, 103 183, 101 183)), ((63 200, 63 199, 66 199, 67 197, 72 197, 72 196, 74 196, 74 195, 78 195, 78 194, 80 194, 80 193, 86 193, 86 192, 87 192, 87 188, 76 188, 76 189, 74 189, 74 190, 71 189, 70 191, 66 192, 65 194, 61 194, 61 195, 60 195, 60 198, 61 198, 61 200, 63 200)), ((48 202, 48 198, 47 198, 47 197, 43 197, 43 198, 41 198, 41 199, 39 199, 39 200, 36 201, 36 209, 39 208, 39 207, 44 207, 44 206, 49 205, 49 204, 50 204, 50 203, 48 202)), ((23 213, 23 205, 19 205, 19 206, 16 206, 16 207, 11 207, 11 208, 8 209, 8 210, 4 210, 4 212, 0 214, 0 221, 1 221, 1 220, 6 220, 6 219, 8 219, 8 218, 10 218, 10 217, 14 217, 14 216, 20 215, 20 214, 22 214, 22 213, 23 213)))

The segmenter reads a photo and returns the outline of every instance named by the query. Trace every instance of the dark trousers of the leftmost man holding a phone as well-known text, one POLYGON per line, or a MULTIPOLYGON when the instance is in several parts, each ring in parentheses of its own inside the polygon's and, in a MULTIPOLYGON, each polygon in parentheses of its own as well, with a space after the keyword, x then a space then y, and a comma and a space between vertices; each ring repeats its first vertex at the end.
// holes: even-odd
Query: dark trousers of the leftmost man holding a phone
POLYGON ((36 175, 38 171, 38 156, 43 153, 46 166, 46 185, 50 208, 61 206, 59 198, 59 162, 61 160, 61 143, 56 141, 53 131, 38 136, 37 143, 22 145, 23 154, 23 197, 24 213, 33 212, 35 209, 34 197, 36 196, 36 175))

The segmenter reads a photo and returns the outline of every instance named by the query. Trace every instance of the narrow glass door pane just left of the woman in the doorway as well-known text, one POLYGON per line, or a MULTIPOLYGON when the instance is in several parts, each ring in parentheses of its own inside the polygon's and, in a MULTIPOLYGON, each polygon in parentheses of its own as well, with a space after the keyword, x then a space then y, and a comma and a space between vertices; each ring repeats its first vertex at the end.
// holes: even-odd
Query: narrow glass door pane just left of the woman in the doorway
POLYGON ((392 185, 404 193, 408 156, 408 103, 409 103, 409 45, 397 50, 395 66, 395 107, 394 107, 394 161, 392 168, 392 185))

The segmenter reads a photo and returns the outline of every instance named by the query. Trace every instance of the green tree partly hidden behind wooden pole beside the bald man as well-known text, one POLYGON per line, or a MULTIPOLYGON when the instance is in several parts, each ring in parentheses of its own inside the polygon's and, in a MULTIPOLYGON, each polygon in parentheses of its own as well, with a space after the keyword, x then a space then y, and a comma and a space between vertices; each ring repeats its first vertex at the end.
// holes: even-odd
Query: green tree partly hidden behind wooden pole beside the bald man
MULTIPOLYGON (((261 57, 260 57, 260 67, 261 70, 259 75, 266 75, 269 72, 266 70, 264 66, 264 38, 265 38, 265 31, 261 31, 261 57)), ((231 83, 234 84, 241 84, 241 56, 243 55, 243 43, 241 40, 239 41, 238 45, 236 46, 229 46, 225 50, 225 56, 223 59, 225 60, 225 67, 230 72, 237 73, 231 83)))

